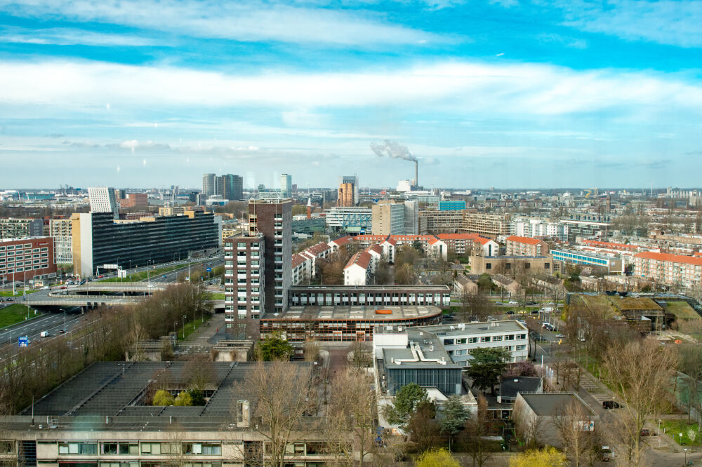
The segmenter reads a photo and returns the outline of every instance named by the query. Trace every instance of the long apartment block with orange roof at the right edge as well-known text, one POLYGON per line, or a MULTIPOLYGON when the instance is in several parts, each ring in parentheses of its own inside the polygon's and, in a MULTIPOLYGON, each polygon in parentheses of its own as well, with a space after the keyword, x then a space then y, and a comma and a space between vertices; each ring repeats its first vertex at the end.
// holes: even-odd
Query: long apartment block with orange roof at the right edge
POLYGON ((634 277, 675 287, 693 287, 702 280, 702 257, 640 252, 634 256, 634 277))

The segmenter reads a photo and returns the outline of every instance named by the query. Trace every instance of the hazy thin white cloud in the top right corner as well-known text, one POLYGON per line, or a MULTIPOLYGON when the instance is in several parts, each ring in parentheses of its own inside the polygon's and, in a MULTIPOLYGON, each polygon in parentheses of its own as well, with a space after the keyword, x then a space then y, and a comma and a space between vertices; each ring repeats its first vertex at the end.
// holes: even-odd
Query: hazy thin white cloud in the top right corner
POLYGON ((562 0, 564 25, 627 40, 682 47, 702 46, 702 2, 698 0, 562 0))

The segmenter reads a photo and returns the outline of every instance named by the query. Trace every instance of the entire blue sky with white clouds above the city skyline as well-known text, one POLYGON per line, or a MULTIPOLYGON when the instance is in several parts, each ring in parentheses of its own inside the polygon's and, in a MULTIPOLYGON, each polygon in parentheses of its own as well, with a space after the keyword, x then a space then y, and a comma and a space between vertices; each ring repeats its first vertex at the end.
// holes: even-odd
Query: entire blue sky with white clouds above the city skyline
POLYGON ((0 188, 699 187, 702 1, 0 0, 0 188), (380 154, 383 154, 380 152, 380 154))

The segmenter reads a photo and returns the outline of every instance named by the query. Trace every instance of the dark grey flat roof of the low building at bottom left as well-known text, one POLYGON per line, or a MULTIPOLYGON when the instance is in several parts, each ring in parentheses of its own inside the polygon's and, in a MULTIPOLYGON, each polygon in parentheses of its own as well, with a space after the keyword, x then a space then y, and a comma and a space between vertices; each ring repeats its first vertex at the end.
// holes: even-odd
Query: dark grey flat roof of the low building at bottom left
MULTIPOLYGON (((141 429, 151 424, 154 429, 171 423, 169 417, 179 417, 187 422, 189 429, 211 430, 232 422, 232 404, 243 395, 236 385, 246 381, 256 363, 211 362, 211 382, 208 391, 213 395, 205 405, 176 407, 147 405, 146 389, 154 381, 171 391, 182 391, 189 386, 187 362, 100 362, 55 388, 34 402, 34 417, 42 423, 46 417, 56 418, 60 426, 81 429, 110 417, 109 426, 100 429, 125 429, 137 426, 141 429), (228 420, 228 421, 227 421, 228 420)), ((300 363, 300 368, 308 363, 300 363)), ((30 416, 32 407, 20 412, 30 416)))

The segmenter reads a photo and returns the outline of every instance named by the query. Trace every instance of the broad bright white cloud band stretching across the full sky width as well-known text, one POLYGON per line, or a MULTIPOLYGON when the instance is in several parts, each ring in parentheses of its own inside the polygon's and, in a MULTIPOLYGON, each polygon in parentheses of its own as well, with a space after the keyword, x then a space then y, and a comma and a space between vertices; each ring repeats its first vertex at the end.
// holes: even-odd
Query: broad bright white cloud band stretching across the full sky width
MULTIPOLYGON (((150 107, 296 109, 395 107, 420 111, 655 116, 702 109, 702 87, 670 74, 552 65, 449 62, 392 72, 237 76, 102 62, 0 62, 0 104, 105 114, 150 107), (51 76, 51 79, 46 79, 51 76), (119 102, 119 104, 114 104, 119 102)), ((297 111, 299 112, 299 111, 297 111)))

